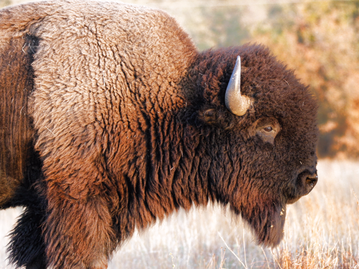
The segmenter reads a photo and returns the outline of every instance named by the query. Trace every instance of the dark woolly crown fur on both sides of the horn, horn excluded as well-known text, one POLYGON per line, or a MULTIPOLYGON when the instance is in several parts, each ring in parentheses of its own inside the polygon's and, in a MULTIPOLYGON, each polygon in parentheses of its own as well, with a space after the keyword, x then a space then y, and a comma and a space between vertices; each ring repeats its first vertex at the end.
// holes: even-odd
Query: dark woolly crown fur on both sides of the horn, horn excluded
MULTIPOLYGON (((190 73, 195 79, 198 103, 224 106, 228 81, 238 55, 242 60, 241 94, 250 97, 252 105, 251 113, 244 118, 248 114, 254 114, 255 118, 291 115, 293 119, 313 121, 317 104, 308 87, 262 45, 247 44, 202 53, 190 73)), ((233 120, 236 121, 234 117, 233 120)))

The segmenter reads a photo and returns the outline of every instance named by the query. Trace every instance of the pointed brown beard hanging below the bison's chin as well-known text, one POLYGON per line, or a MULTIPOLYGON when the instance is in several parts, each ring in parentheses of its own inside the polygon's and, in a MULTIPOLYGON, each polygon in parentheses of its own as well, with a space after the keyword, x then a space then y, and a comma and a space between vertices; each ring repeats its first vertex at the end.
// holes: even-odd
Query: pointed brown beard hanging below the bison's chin
POLYGON ((284 236, 286 206, 275 202, 256 204, 241 210, 243 220, 256 238, 256 243, 266 247, 277 246, 284 236))

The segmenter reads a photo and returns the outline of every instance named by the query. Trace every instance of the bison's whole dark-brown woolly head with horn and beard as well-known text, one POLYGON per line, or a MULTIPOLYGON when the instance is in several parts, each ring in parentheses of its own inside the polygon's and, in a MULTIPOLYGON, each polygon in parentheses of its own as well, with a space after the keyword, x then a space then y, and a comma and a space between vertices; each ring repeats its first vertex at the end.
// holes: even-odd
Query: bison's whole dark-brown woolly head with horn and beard
POLYGON ((229 203, 258 243, 275 246, 286 204, 317 181, 316 101, 263 46, 204 52, 191 75, 212 200, 229 203))

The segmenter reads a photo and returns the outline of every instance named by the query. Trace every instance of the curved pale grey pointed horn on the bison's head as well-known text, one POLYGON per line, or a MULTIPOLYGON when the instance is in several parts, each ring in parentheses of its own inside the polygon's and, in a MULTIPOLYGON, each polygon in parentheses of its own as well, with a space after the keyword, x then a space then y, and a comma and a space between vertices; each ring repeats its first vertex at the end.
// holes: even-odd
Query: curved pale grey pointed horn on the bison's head
POLYGON ((246 114, 249 106, 250 99, 248 96, 241 95, 241 57, 237 56, 233 73, 228 82, 225 102, 227 109, 234 115, 243 116, 246 114))

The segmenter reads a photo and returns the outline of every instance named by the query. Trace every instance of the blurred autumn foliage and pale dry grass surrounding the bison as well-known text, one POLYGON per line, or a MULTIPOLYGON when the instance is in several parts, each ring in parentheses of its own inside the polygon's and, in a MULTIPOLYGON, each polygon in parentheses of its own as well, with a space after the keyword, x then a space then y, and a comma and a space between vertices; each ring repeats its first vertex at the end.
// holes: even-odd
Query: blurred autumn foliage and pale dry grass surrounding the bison
MULTIPOLYGON (((0 7, 24 2, 0 0, 0 7)), ((170 268, 170 252, 176 268, 359 268, 359 1, 122 2, 166 10, 200 50, 262 43, 294 69, 320 103, 320 180, 288 206, 275 250, 256 246, 240 220, 211 205, 137 233, 109 268, 170 268)), ((0 269, 12 268, 5 235, 21 211, 0 212, 0 269)))

